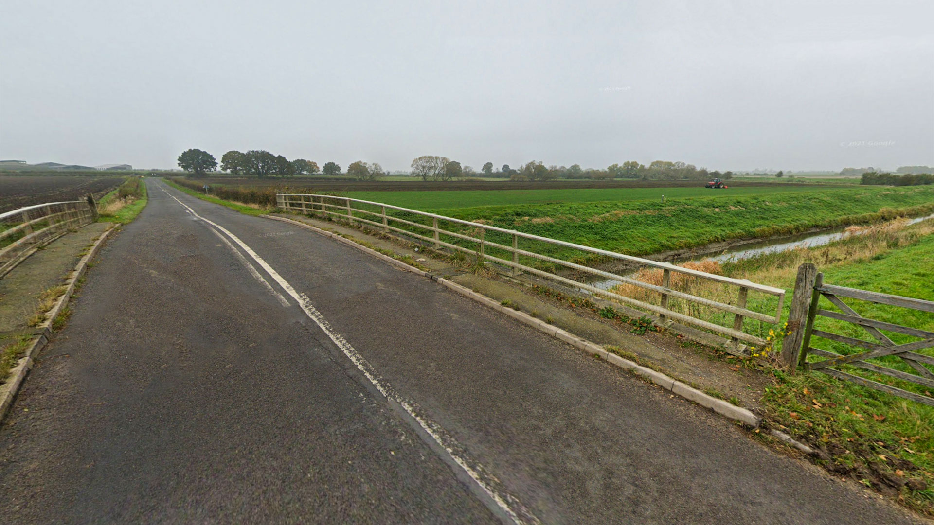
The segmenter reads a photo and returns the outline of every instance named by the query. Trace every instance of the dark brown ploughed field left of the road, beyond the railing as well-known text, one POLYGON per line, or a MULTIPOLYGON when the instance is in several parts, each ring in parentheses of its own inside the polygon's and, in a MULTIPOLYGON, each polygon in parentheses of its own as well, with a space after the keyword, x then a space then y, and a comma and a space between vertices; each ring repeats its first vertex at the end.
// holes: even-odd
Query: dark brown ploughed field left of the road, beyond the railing
POLYGON ((0 213, 22 206, 98 198, 120 185, 123 177, 0 176, 0 213))

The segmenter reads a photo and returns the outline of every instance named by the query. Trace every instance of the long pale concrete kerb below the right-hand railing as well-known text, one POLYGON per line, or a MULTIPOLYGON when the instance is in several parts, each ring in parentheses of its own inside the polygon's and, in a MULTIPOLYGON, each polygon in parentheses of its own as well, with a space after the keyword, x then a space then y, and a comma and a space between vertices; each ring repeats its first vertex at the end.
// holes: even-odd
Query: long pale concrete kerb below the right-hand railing
POLYGON ((725 418, 739 421, 743 423, 744 425, 748 425, 750 427, 758 427, 762 422, 762 419, 757 417, 756 414, 754 414, 751 410, 747 408, 743 408, 742 406, 737 406, 735 404, 731 404, 722 399, 715 398, 714 396, 710 394, 704 393, 701 390, 695 389, 694 387, 686 385, 685 383, 682 383, 681 381, 678 381, 670 376, 666 376, 656 370, 652 370, 651 368, 645 367, 637 362, 632 362, 628 359, 619 357, 616 354, 607 352, 604 348, 602 348, 600 345, 596 343, 587 341, 587 339, 584 339, 582 337, 574 335, 573 333, 562 330, 557 326, 548 324, 542 319, 533 318, 531 317, 531 315, 525 312, 518 311, 509 306, 501 305, 498 302, 494 301, 493 299, 490 299, 486 295, 483 295, 482 293, 478 293, 476 291, 470 290, 467 287, 461 286, 460 284, 450 281, 444 277, 434 276, 428 272, 419 270, 418 268, 410 264, 406 264, 405 262, 393 259, 389 257, 388 255, 375 251, 374 249, 366 248, 365 246, 361 246, 360 244, 355 243, 347 238, 344 238, 337 234, 333 234, 326 230, 322 230, 320 228, 312 226, 311 224, 306 224, 298 220, 291 220, 291 219, 287 219, 284 217, 275 217, 272 215, 261 215, 260 217, 265 218, 265 219, 280 220, 282 222, 288 222, 290 224, 294 224, 296 226, 302 227, 306 230, 311 230, 318 234, 331 237, 333 239, 336 239, 337 241, 347 244, 348 246, 352 246, 354 248, 361 249, 362 251, 365 251, 367 253, 373 254, 376 257, 386 262, 390 262, 392 264, 400 266, 404 268, 405 270, 416 273, 423 277, 430 277, 432 280, 436 281, 438 284, 441 284, 442 286, 446 287, 447 289, 451 291, 457 291, 461 295, 469 297, 470 299, 473 299, 477 303, 486 305, 494 310, 497 310, 497 311, 500 311, 506 314, 507 316, 513 319, 517 319, 518 321, 524 322, 525 324, 528 324, 536 328, 537 330, 540 330, 541 332, 552 335, 558 338, 559 340, 564 341, 565 343, 568 343, 574 348, 579 348, 579 349, 586 351, 589 354, 599 356, 602 360, 606 362, 613 363, 620 368, 629 370, 633 374, 637 376, 641 376, 644 379, 647 379, 655 383, 660 388, 665 389, 665 390, 670 390, 673 394, 681 396, 685 398, 686 400, 694 402, 696 404, 700 404, 703 407, 709 408, 713 410, 715 413, 725 418))

